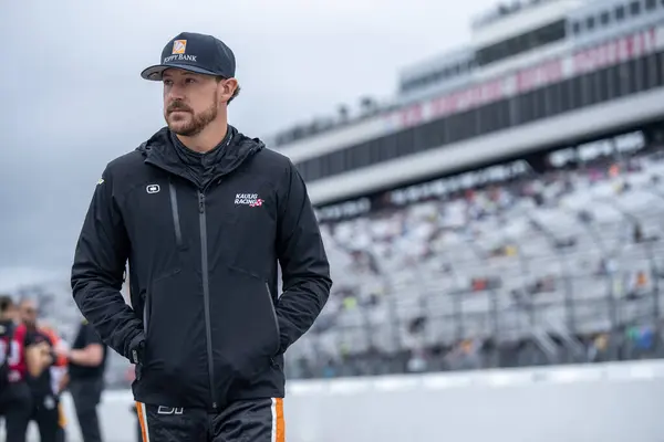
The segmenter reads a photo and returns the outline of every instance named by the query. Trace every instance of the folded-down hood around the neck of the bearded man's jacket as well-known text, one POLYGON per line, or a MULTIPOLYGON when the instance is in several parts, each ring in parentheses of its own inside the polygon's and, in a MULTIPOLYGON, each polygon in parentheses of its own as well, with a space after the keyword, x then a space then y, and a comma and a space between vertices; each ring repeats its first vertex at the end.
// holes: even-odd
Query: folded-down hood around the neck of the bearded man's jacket
POLYGON ((230 125, 228 126, 228 130, 227 138, 215 149, 206 154, 188 151, 186 155, 183 155, 178 152, 178 149, 186 149, 186 147, 175 145, 175 143, 179 141, 175 140, 174 143, 173 138, 175 137, 168 127, 159 129, 147 141, 136 148, 136 150, 143 155, 146 162, 189 180, 198 181, 191 179, 191 162, 203 164, 205 168, 209 169, 211 176, 216 178, 230 173, 247 159, 264 148, 264 144, 258 138, 249 138, 230 125))

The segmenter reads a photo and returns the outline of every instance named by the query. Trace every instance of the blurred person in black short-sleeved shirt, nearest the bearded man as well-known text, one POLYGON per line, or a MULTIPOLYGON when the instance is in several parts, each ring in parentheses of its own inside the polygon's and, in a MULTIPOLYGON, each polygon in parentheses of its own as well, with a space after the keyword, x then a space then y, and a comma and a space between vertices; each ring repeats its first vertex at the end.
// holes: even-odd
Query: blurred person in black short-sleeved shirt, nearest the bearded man
POLYGON ((87 320, 81 322, 71 349, 60 347, 66 357, 69 391, 74 401, 83 442, 101 442, 97 406, 104 391, 107 348, 87 320))

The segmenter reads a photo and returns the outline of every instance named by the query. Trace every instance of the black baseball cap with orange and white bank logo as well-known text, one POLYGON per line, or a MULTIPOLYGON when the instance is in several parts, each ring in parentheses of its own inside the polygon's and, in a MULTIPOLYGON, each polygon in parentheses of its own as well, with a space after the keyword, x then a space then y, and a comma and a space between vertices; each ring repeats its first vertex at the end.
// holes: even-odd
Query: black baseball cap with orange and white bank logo
POLYGON ((235 76, 235 55, 212 35, 181 32, 162 51, 162 63, 145 69, 141 76, 158 82, 169 67, 230 78, 235 76))

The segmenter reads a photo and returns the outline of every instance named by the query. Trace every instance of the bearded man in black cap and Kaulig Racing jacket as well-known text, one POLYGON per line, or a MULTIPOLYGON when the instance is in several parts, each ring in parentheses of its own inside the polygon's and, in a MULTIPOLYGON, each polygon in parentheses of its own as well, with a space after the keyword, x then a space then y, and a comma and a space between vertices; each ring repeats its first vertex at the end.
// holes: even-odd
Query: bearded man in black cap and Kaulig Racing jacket
POLYGON ((283 352, 332 285, 298 170, 227 122, 235 69, 214 36, 167 43, 142 74, 167 127, 107 165, 75 252, 76 304, 136 364, 146 441, 282 442, 283 352))

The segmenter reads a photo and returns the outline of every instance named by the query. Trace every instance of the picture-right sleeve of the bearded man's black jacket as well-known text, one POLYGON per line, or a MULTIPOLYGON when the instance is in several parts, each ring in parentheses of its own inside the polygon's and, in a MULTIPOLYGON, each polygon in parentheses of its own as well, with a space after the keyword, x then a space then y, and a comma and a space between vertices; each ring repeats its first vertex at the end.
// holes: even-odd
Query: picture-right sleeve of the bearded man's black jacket
POLYGON ((304 181, 292 162, 282 183, 277 255, 283 293, 277 304, 280 354, 313 325, 328 302, 332 280, 318 220, 304 181))

